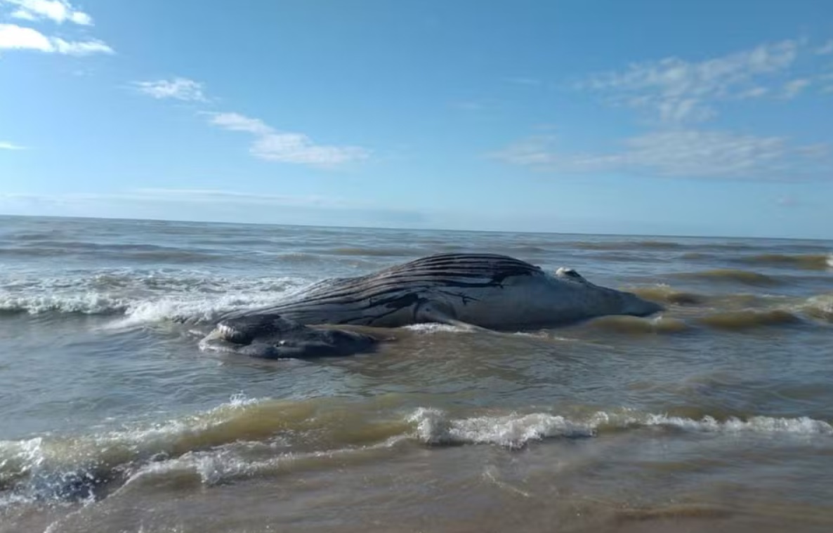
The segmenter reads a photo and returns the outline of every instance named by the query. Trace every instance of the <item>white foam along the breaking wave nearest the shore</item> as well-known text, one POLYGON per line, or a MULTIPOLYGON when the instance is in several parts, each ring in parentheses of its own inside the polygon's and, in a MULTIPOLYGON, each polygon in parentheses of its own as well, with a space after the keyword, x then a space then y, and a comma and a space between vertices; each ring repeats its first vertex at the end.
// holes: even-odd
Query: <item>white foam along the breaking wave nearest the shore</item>
MULTIPOLYGON (((8 491, 17 496, 12 500, 3 498, 0 507, 37 497, 60 497, 56 495, 61 494, 66 476, 92 480, 117 466, 132 465, 132 471, 127 472, 126 485, 147 476, 172 473, 195 476, 203 485, 214 485, 242 476, 273 472, 287 464, 297 464, 297 461, 320 461, 340 454, 392 448, 397 442, 406 440, 438 446, 484 444, 515 449, 549 438, 591 438, 600 431, 651 427, 716 436, 783 435, 801 436, 802 439, 830 439, 833 436, 833 426, 829 422, 807 416, 732 417, 718 421, 712 416, 693 419, 619 410, 585 415, 537 411, 455 417, 430 407, 418 408, 405 416, 412 428, 410 431, 399 431, 368 446, 297 451, 292 444, 297 442, 298 436, 287 437, 287 440, 270 437, 254 441, 239 441, 233 432, 220 440, 213 436, 212 428, 233 422, 239 416, 251 416, 247 409, 264 401, 268 400, 236 394, 210 410, 154 425, 96 431, 75 438, 0 441, 0 486, 23 489, 8 491)), ((266 407, 272 409, 272 406, 266 407)), ((281 408, 280 404, 274 407, 281 408)))

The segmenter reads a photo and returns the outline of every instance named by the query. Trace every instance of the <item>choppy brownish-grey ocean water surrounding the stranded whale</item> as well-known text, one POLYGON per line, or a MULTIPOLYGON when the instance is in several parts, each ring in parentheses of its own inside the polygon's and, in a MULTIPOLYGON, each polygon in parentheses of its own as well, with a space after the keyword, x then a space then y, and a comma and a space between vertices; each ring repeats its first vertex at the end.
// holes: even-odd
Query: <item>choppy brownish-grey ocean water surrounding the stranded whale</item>
POLYGON ((833 531, 831 252, 0 217, 0 532, 833 531), (222 312, 466 251, 666 311, 309 361, 197 346, 222 312))

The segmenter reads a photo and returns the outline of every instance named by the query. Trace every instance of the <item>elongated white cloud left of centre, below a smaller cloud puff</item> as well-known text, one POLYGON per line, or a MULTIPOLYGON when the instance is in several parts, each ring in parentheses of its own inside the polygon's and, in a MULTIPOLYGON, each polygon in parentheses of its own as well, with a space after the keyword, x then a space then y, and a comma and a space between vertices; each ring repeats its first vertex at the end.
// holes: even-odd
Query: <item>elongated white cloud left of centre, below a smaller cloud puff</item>
POLYGON ((257 118, 238 113, 209 113, 213 125, 234 132, 255 136, 250 152, 269 161, 287 162, 312 167, 337 167, 370 157, 362 147, 326 146, 312 141, 303 133, 277 132, 257 118))

